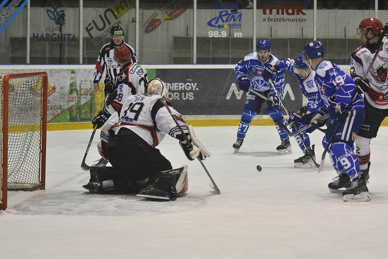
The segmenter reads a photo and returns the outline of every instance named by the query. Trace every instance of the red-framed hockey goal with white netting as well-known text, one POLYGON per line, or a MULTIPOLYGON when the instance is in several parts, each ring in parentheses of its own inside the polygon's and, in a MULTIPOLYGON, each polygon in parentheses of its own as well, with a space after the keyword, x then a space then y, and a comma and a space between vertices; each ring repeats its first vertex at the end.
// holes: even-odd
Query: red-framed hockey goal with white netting
POLYGON ((8 190, 44 190, 46 178, 46 72, 0 73, 0 209, 8 190))

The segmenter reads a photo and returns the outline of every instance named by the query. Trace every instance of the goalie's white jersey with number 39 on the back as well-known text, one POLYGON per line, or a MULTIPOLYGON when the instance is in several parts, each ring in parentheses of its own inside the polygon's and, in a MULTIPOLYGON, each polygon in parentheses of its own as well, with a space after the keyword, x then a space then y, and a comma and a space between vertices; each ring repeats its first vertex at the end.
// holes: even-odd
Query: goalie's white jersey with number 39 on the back
MULTIPOLYGON (((162 142, 166 134, 176 138, 181 132, 161 99, 162 96, 154 94, 129 96, 121 109, 102 126, 100 139, 109 142, 109 133, 113 131, 117 134, 122 127, 130 129, 152 147, 162 142)), ((182 116, 173 107, 169 108, 183 132, 189 133, 182 116)))

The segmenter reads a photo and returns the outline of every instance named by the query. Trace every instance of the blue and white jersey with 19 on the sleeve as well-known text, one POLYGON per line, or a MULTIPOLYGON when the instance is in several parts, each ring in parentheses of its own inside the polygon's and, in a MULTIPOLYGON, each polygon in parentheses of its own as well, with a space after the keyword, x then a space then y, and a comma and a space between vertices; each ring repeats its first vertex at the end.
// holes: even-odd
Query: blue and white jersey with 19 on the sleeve
MULTIPOLYGON (((330 114, 331 109, 339 109, 338 106, 340 106, 341 112, 344 112, 356 91, 356 83, 336 64, 324 59, 318 63, 315 72, 315 81, 322 92, 323 108, 328 110, 330 114)), ((357 93, 350 110, 364 107, 364 100, 357 93)))

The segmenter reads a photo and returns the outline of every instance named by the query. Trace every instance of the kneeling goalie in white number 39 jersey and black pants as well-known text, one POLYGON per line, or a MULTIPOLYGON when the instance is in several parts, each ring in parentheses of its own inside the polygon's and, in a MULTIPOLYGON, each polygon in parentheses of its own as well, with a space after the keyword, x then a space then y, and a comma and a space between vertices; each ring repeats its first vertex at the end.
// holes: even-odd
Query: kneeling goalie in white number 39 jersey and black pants
POLYGON ((189 160, 210 157, 197 140, 193 128, 166 101, 164 82, 153 79, 146 94, 129 96, 101 128, 98 152, 112 167, 90 170, 91 179, 83 188, 97 193, 126 192, 138 196, 175 200, 188 190, 187 165, 173 169, 170 161, 156 148, 166 134, 179 139, 189 160), (185 140, 182 132, 187 136, 185 140))

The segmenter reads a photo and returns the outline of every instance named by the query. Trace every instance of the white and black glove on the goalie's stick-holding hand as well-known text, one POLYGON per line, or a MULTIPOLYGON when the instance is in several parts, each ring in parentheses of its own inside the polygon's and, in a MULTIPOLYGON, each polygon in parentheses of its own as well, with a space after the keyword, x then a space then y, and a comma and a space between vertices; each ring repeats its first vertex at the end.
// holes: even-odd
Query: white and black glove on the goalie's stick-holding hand
POLYGON ((196 157, 200 161, 205 160, 206 157, 210 157, 211 153, 207 148, 205 148, 201 142, 199 142, 198 138, 195 137, 192 125, 189 125, 189 135, 187 135, 184 140, 179 141, 179 145, 185 153, 187 159, 193 161, 196 157))

